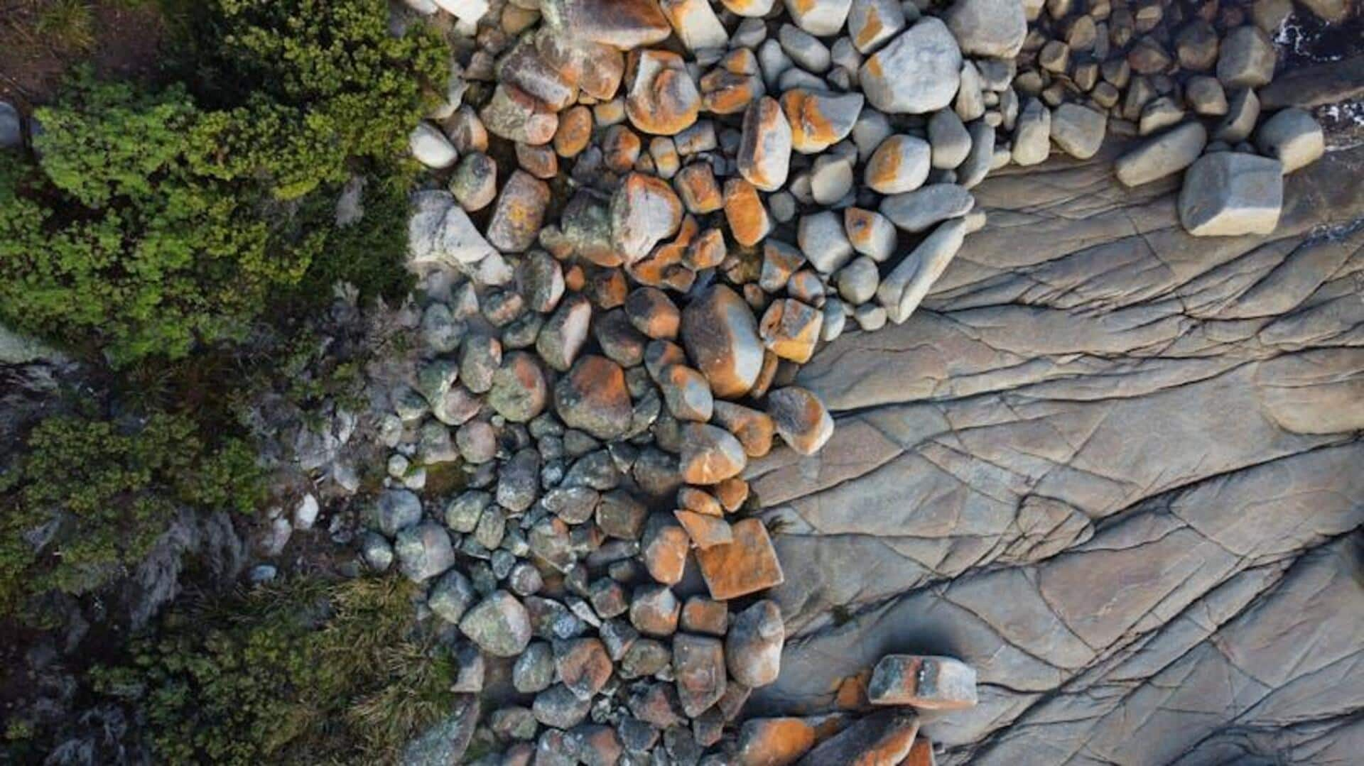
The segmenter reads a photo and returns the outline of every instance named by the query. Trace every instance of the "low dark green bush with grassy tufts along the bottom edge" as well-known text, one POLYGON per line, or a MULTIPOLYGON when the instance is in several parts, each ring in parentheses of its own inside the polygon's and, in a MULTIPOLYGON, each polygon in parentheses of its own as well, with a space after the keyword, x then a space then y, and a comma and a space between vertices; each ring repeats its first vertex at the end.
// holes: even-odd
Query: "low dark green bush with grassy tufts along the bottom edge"
POLYGON ((170 613, 95 688, 136 706, 158 762, 387 761, 454 702, 456 664, 412 635, 416 592, 299 579, 170 613))

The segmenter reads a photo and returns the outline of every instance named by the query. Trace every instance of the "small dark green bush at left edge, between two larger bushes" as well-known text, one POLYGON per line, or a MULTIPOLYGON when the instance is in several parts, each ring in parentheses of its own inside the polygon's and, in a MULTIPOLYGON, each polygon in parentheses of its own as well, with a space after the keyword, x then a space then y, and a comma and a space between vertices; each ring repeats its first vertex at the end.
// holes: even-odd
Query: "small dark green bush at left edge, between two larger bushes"
POLYGON ((177 508, 250 511, 262 487, 246 444, 210 447, 186 417, 135 431, 50 417, 0 474, 0 615, 49 590, 98 589, 142 560, 177 508))

